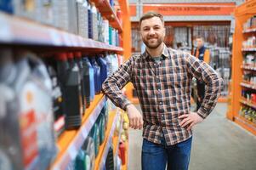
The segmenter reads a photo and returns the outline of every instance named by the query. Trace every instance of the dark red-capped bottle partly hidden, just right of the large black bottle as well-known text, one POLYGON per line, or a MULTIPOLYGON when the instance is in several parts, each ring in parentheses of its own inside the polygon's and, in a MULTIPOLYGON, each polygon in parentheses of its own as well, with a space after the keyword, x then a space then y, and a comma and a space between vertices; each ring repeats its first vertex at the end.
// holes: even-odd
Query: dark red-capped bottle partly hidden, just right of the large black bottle
POLYGON ((87 87, 87 84, 86 84, 86 80, 85 80, 85 76, 86 76, 86 70, 85 68, 83 67, 83 63, 82 63, 82 54, 80 52, 76 52, 74 54, 74 57, 75 57, 75 61, 79 67, 79 71, 80 71, 80 77, 81 77, 81 96, 82 96, 82 114, 85 113, 85 110, 86 110, 86 94, 85 94, 85 91, 86 91, 86 88, 87 87))

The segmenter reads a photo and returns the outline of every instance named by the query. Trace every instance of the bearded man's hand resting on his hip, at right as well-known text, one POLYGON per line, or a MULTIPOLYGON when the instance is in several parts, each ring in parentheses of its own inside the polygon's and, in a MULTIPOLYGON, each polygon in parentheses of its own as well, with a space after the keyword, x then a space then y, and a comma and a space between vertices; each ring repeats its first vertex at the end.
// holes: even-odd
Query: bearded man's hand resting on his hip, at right
POLYGON ((179 123, 181 127, 187 127, 187 130, 191 130, 197 123, 202 122, 202 117, 199 116, 196 112, 191 112, 190 114, 179 116, 179 119, 183 119, 182 122, 179 123))

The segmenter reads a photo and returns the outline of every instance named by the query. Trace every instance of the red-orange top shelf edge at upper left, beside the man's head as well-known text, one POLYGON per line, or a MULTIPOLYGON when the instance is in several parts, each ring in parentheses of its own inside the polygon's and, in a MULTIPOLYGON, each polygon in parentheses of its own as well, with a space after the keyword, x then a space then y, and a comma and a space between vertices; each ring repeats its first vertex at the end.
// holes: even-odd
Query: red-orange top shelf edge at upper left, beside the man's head
POLYGON ((117 14, 114 12, 111 4, 107 0, 91 0, 99 9, 100 14, 109 20, 111 26, 116 28, 119 32, 122 32, 122 26, 117 18, 117 14))

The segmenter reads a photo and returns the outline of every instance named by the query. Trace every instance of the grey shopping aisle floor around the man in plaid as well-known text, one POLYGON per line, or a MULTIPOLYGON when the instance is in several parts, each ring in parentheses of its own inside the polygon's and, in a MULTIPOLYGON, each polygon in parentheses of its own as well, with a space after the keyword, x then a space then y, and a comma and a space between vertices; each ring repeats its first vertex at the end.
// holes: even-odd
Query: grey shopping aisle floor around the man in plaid
MULTIPOLYGON (((228 121, 225 112, 226 104, 218 104, 195 127, 190 170, 256 169, 256 137, 228 121)), ((141 169, 141 134, 141 130, 129 130, 129 170, 141 169)))

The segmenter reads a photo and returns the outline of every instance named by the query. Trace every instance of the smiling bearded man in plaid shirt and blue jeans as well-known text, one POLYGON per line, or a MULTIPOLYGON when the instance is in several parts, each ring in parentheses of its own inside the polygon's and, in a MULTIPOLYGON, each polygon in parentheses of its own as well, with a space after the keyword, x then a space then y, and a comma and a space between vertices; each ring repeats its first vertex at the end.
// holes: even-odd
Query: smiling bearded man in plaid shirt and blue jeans
POLYGON ((128 59, 103 83, 112 102, 128 112, 130 127, 143 127, 143 170, 187 170, 191 156, 191 128, 213 110, 222 79, 205 62, 191 54, 167 48, 162 15, 148 12, 139 20, 145 53, 128 59), (191 79, 207 84, 205 99, 197 112, 190 111, 191 79), (132 82, 143 116, 122 94, 132 82))

